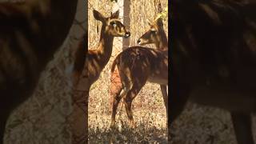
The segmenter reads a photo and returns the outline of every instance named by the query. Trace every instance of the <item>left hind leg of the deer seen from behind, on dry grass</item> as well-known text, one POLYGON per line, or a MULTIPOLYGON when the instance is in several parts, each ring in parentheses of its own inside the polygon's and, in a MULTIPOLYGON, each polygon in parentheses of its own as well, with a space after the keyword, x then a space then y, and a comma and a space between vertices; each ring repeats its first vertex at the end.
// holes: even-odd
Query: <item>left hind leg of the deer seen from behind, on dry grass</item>
POLYGON ((117 114, 118 104, 120 100, 126 95, 126 90, 120 89, 117 94, 114 95, 113 98, 113 106, 112 106, 112 116, 111 116, 111 124, 110 127, 114 127, 115 125, 115 115, 117 114))

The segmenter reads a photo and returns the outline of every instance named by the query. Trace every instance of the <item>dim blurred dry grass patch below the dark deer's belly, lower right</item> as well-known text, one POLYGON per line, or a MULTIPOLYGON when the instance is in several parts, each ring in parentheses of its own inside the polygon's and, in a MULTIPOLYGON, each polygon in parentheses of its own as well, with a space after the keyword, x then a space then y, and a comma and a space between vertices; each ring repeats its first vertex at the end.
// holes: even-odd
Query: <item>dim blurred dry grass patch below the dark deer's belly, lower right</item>
POLYGON ((193 103, 174 122, 171 134, 172 144, 236 144, 229 113, 193 103))

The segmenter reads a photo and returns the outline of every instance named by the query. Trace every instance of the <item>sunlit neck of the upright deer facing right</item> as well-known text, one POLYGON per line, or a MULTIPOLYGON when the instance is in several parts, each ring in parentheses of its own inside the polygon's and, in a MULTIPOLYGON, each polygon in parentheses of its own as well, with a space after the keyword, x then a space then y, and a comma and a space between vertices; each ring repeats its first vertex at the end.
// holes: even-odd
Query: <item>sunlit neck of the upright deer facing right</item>
POLYGON ((107 34, 105 30, 102 29, 101 37, 98 44, 98 58, 99 64, 106 66, 106 63, 109 62, 112 49, 113 49, 114 36, 107 34))

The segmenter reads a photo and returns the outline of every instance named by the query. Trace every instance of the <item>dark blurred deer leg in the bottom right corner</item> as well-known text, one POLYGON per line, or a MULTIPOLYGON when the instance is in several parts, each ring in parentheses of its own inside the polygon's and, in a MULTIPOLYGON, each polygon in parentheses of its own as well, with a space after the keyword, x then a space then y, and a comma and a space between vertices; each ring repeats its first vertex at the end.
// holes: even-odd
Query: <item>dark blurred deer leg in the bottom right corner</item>
POLYGON ((250 114, 231 113, 238 144, 254 144, 250 114))

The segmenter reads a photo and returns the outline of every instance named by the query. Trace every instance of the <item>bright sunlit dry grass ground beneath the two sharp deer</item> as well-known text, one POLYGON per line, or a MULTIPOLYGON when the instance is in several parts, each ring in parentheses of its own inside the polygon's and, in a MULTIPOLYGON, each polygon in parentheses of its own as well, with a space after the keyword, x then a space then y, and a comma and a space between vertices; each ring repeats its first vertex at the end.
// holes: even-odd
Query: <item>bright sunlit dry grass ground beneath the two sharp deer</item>
POLYGON ((166 108, 156 84, 147 83, 134 99, 136 127, 130 128, 125 106, 120 102, 117 129, 110 130, 110 80, 106 71, 90 90, 89 143, 167 143, 166 108))

